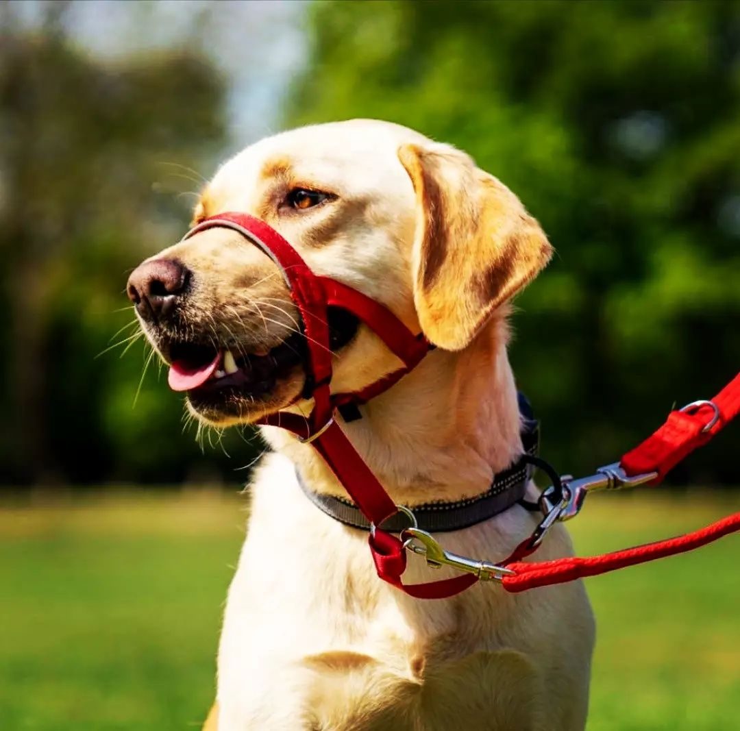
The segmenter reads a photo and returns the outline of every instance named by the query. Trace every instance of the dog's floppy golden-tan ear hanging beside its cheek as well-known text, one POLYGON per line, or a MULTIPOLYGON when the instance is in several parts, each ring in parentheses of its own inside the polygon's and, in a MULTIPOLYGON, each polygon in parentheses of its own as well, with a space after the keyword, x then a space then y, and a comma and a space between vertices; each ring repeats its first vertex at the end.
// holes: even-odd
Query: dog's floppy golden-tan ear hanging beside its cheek
POLYGON ((462 350, 548 263, 552 246, 516 195, 443 144, 398 150, 417 198, 414 304, 428 340, 462 350))

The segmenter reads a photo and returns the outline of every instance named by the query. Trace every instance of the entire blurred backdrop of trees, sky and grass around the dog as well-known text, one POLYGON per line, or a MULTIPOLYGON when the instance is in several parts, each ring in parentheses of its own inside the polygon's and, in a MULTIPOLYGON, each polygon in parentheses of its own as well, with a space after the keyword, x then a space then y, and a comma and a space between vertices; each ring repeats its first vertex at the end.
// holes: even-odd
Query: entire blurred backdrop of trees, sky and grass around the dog
MULTIPOLYGON (((1 729, 203 718, 262 445, 184 427, 124 284, 228 155, 351 117, 467 150, 548 232, 511 360, 560 471, 737 372, 738 2, 2 1, 1 729)), ((737 445, 593 500, 577 547, 737 510, 737 445)), ((590 729, 739 727, 736 546, 589 584, 590 729)))

